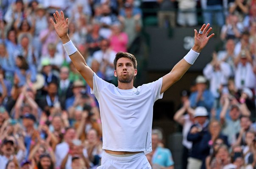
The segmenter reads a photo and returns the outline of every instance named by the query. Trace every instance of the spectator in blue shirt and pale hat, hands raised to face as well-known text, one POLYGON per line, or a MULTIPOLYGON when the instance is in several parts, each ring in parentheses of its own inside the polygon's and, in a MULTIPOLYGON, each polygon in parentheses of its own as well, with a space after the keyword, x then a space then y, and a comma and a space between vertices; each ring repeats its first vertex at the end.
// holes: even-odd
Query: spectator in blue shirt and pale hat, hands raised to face
POLYGON ((195 79, 197 90, 190 95, 189 101, 192 108, 203 106, 207 112, 211 112, 211 108, 214 106, 214 96, 207 89, 206 82, 206 78, 201 75, 195 79))

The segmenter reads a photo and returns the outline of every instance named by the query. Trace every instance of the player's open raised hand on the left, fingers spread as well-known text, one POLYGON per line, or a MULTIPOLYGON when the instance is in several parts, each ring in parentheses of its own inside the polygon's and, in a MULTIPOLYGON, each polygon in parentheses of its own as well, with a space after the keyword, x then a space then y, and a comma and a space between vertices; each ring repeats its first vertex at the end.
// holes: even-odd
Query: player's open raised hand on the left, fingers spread
POLYGON ((56 11, 53 14, 53 16, 54 16, 56 23, 53 21, 53 19, 50 19, 50 22, 53 24, 57 35, 60 38, 64 38, 65 36, 67 36, 68 18, 66 18, 66 20, 64 19, 63 11, 61 11, 61 15, 58 13, 58 11, 56 11))

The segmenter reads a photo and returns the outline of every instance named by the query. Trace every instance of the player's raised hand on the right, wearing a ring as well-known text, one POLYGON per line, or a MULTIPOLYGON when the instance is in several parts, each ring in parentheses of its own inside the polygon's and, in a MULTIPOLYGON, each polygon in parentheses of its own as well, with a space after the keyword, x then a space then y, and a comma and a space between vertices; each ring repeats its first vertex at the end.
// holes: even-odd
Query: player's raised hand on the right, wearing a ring
POLYGON ((210 24, 207 24, 207 25, 203 24, 203 26, 200 28, 199 33, 197 30, 194 30, 195 31, 195 44, 194 44, 192 50, 194 50, 195 52, 200 53, 201 50, 204 48, 204 46, 206 46, 206 44, 208 43, 209 39, 214 36, 214 33, 209 35, 209 33, 212 30, 212 28, 211 27, 209 28, 209 26, 210 26, 210 24))

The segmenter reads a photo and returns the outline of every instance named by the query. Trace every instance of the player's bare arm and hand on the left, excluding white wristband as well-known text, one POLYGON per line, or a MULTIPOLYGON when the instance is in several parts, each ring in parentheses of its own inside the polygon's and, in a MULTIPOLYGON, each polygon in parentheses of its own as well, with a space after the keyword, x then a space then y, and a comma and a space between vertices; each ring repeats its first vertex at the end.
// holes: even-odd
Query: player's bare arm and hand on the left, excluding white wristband
MULTIPOLYGON (((61 38, 63 44, 66 44, 70 41, 70 38, 67 34, 68 30, 68 18, 64 20, 64 13, 61 11, 61 15, 56 11, 53 14, 56 23, 51 19, 51 23, 54 25, 57 35, 61 38)), ((93 71, 89 66, 86 64, 83 56, 80 52, 76 51, 74 54, 70 55, 70 59, 72 60, 75 68, 79 71, 79 73, 83 76, 86 80, 87 84, 93 89, 93 71)))

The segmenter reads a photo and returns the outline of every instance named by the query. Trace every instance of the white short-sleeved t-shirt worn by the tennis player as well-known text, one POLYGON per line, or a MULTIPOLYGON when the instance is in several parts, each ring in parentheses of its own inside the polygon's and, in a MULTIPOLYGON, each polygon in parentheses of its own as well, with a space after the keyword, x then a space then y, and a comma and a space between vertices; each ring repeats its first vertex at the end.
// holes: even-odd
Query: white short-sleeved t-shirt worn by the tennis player
POLYGON ((137 88, 121 90, 95 73, 93 90, 100 104, 103 149, 112 151, 152 151, 153 104, 163 97, 162 78, 137 88))

